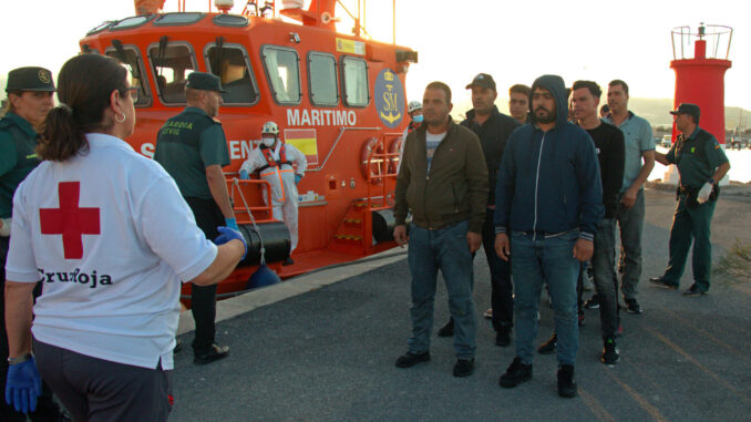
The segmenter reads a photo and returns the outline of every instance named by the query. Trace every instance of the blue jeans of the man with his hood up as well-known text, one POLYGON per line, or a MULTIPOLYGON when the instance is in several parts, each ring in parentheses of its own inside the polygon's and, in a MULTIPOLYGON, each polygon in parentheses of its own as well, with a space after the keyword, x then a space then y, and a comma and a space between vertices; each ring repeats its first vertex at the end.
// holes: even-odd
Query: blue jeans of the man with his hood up
POLYGON ((580 263, 574 258, 578 230, 545 237, 521 231, 511 235, 511 260, 514 278, 514 316, 516 317, 516 356, 525 364, 532 363, 537 337, 537 307, 543 280, 553 300, 556 347, 559 364, 576 363, 579 326, 576 315, 576 282, 580 263))

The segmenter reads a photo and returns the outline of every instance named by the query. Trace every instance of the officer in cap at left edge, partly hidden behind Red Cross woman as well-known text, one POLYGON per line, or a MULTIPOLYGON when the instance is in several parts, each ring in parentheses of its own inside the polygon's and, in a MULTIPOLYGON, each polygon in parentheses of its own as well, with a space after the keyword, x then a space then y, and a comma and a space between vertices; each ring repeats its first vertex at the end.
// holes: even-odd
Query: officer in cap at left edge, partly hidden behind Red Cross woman
MULTIPOLYGON (((6 258, 10 244, 11 212, 13 193, 18 185, 31 173, 39 158, 34 148, 39 135, 38 127, 44 123, 47 113, 54 106, 52 94, 54 82, 49 70, 43 68, 19 68, 8 73, 8 110, 0 119, 0 378, 4 392, 8 375, 8 337, 6 333, 4 284, 6 258)), ((34 296, 41 294, 41 285, 34 296)), ((0 400, 0 420, 25 421, 23 413, 0 400)), ((33 421, 53 421, 60 416, 60 408, 52 401, 52 393, 44 388, 39 398, 35 412, 30 413, 33 421)))

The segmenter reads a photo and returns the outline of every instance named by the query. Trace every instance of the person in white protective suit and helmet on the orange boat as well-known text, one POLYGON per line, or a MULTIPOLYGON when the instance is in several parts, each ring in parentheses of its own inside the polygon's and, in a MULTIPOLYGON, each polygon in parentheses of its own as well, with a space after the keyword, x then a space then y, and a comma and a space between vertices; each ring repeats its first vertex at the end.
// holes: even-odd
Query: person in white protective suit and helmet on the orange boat
MULTIPOLYGON (((260 144, 253 150, 248 159, 240 166, 240 179, 250 178, 251 173, 271 185, 271 207, 274 218, 284 220, 289 229, 292 245, 289 255, 297 248, 297 184, 305 175, 308 161, 298 148, 279 141, 279 126, 266 122, 260 133, 260 144), (297 164, 297 172, 292 167, 297 164)), ((269 193, 264 192, 264 200, 269 204, 269 193)), ((294 264, 287 258, 284 265, 294 264)))

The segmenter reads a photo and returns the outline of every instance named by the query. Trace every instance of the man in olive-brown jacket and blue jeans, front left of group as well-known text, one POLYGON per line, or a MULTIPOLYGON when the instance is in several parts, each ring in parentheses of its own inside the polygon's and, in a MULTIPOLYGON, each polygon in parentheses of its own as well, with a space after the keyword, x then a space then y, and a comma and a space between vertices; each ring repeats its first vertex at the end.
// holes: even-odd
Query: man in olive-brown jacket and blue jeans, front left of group
POLYGON ((439 269, 455 321, 454 377, 474 372, 477 320, 472 300, 472 254, 482 243, 487 199, 487 169, 477 136, 453 123, 451 89, 443 82, 425 88, 424 123, 407 136, 397 177, 393 230, 407 244, 405 218, 412 213, 408 260, 412 275, 412 337, 397 368, 430 360, 430 334, 439 269))

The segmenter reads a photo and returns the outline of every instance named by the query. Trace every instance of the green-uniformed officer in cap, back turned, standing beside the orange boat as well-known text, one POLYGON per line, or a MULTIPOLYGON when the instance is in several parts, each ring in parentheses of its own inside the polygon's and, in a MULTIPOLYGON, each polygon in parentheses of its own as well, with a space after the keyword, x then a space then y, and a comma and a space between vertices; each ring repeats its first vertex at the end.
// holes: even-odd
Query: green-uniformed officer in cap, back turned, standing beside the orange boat
MULTIPOLYGON (((238 230, 222 171, 230 162, 227 140, 215 119, 223 92, 217 76, 191 73, 185 85, 187 106, 162 126, 154 151, 154 159, 175 179, 208 239, 219 236, 218 226, 238 230)), ((192 289, 191 310, 196 321, 193 362, 204 364, 227 357, 229 347, 215 343, 216 285, 194 285, 192 289)))

